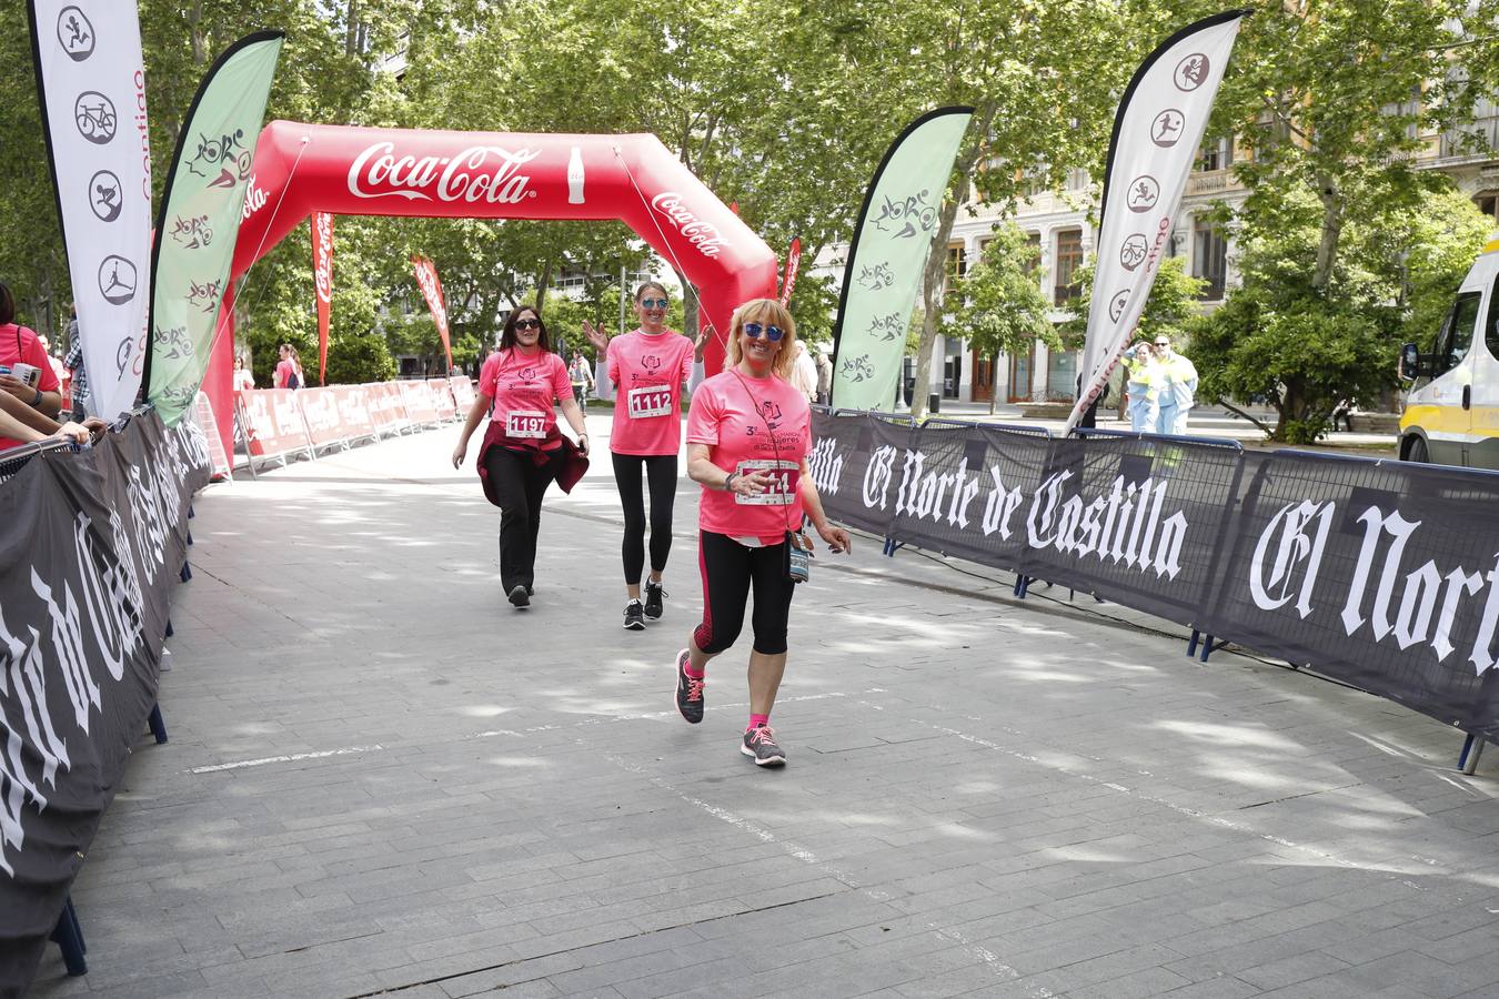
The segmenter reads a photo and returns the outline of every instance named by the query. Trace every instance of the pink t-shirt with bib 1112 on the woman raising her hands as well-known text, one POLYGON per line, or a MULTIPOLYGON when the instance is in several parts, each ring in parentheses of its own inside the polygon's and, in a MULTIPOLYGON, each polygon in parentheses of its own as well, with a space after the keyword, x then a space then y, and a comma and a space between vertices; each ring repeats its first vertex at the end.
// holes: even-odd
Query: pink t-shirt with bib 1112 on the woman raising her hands
POLYGON ((627 333, 609 341, 615 383, 615 454, 676 454, 682 446, 682 382, 693 374, 693 341, 670 330, 627 333))

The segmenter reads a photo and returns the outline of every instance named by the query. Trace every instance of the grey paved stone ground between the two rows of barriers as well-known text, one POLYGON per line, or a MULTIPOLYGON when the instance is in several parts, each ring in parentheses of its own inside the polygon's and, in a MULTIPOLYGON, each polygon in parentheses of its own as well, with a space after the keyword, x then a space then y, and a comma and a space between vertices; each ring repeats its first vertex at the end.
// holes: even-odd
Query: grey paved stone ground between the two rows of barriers
POLYGON ((33 995, 1499 995, 1496 783, 1441 725, 860 539, 757 770, 748 640, 672 708, 690 484, 664 622, 619 628, 607 467, 517 613, 454 436, 199 497, 172 740, 75 887, 91 974, 49 948, 33 995))

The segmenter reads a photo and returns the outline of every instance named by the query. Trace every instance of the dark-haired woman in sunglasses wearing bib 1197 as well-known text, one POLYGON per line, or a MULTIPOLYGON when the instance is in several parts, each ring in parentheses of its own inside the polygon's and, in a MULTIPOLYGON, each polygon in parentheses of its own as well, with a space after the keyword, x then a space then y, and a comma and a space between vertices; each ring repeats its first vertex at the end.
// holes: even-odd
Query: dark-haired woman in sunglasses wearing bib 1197
POLYGON ((588 469, 588 428, 567 364, 552 352, 547 327, 529 306, 510 313, 499 350, 480 370, 478 397, 453 449, 454 469, 463 464, 469 437, 486 415, 478 478, 484 496, 501 511, 499 583, 510 602, 523 608, 531 605, 535 584, 541 497, 552 479, 570 493, 588 469), (558 431, 553 400, 561 401, 577 434, 576 446, 558 431))

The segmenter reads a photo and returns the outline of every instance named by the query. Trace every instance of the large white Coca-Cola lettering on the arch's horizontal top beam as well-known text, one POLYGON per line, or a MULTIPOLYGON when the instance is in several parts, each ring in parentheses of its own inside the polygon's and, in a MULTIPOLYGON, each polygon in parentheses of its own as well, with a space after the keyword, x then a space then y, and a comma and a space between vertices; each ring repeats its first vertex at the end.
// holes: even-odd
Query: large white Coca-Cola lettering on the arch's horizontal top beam
POLYGON ((535 198, 531 177, 520 168, 541 150, 510 151, 474 145, 456 156, 396 156, 394 142, 376 142, 349 166, 349 193, 355 198, 405 198, 514 205, 535 198))

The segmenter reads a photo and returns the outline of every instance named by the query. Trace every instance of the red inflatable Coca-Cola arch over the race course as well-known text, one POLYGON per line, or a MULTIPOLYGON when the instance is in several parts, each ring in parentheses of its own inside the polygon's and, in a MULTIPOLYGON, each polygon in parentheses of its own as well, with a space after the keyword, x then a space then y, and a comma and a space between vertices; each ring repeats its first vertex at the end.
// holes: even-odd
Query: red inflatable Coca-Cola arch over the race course
MULTIPOLYGON (((654 135, 361 129, 271 121, 255 147, 229 288, 313 211, 445 219, 616 219, 697 286, 718 328, 775 294, 770 247, 654 135)), ((225 297, 232 316, 232 297, 225 297)), ((205 389, 228 424, 232 327, 205 389)), ((723 340, 708 349, 708 370, 723 340)), ((225 436, 228 446, 228 436, 225 436)))

